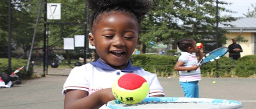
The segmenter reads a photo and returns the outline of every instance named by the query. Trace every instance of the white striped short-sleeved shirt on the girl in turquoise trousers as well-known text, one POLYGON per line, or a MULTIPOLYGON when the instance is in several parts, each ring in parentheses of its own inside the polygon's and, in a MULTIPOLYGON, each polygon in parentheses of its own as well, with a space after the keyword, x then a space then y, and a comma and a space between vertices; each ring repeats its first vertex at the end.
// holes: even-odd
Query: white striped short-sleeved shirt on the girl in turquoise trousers
MULTIPOLYGON (((192 65, 196 65, 198 63, 196 55, 192 55, 188 52, 181 52, 181 56, 178 58, 178 61, 182 61, 185 64, 184 67, 191 67, 192 65)), ((179 71, 180 73, 180 82, 191 82, 202 80, 200 68, 196 70, 188 71, 179 71)))

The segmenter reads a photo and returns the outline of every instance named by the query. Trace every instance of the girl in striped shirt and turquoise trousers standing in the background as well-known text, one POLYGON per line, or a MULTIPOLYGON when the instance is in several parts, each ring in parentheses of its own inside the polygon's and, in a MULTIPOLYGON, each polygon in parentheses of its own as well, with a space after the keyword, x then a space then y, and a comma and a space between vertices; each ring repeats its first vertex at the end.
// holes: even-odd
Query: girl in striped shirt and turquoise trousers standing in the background
POLYGON ((185 97, 199 98, 198 81, 201 80, 201 72, 196 55, 199 52, 199 60, 203 58, 203 48, 197 49, 196 41, 188 38, 177 42, 178 48, 182 51, 178 62, 174 66, 180 73, 180 85, 185 97))

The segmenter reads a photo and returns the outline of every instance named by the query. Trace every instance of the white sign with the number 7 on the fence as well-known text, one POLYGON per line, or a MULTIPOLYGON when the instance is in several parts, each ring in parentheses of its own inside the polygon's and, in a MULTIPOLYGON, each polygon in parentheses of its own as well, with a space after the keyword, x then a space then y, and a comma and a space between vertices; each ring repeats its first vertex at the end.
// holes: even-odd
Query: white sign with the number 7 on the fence
POLYGON ((60 5, 61 3, 47 3, 47 19, 60 20, 60 5))

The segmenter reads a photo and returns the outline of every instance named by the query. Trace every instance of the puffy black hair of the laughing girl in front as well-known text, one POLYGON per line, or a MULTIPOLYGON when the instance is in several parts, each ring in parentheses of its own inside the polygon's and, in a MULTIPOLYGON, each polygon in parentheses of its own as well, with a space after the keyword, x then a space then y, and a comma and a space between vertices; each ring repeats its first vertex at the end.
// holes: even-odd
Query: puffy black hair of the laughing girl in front
POLYGON ((99 13, 111 10, 125 10, 133 13, 140 23, 142 16, 149 11, 152 2, 150 0, 87 0, 88 8, 91 9, 90 26, 99 13))

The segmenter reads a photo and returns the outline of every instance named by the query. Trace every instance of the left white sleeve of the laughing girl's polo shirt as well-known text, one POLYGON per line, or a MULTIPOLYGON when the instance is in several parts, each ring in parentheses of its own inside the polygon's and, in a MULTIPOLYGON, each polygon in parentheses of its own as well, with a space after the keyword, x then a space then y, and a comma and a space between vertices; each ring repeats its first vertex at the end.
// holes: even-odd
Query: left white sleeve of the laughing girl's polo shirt
POLYGON ((63 85, 62 94, 66 94, 66 90, 84 90, 89 92, 89 82, 86 79, 86 68, 84 65, 75 67, 71 70, 67 80, 63 85))

